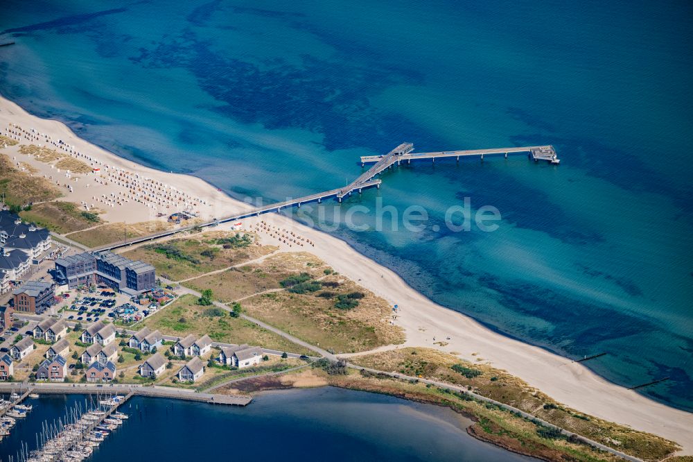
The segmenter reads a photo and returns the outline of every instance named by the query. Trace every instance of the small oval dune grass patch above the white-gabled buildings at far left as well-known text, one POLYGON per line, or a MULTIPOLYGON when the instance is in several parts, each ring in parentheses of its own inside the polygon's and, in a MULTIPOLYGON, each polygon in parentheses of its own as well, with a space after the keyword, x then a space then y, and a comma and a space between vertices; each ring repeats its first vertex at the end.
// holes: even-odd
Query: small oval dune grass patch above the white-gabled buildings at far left
POLYGON ((94 210, 86 212, 74 203, 62 201, 35 204, 19 215, 24 221, 36 223, 58 234, 84 230, 100 222, 98 213, 94 210))

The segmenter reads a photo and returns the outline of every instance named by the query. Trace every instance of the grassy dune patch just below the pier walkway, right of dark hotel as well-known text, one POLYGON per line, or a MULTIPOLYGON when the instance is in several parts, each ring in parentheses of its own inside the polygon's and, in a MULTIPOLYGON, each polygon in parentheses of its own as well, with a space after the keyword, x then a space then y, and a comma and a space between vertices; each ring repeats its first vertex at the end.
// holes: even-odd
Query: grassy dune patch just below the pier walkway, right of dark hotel
POLYGON ((193 237, 171 239, 130 250, 123 254, 141 259, 157 268, 167 279, 179 281, 241 264, 277 250, 273 246, 257 246, 253 234, 209 232, 193 237))

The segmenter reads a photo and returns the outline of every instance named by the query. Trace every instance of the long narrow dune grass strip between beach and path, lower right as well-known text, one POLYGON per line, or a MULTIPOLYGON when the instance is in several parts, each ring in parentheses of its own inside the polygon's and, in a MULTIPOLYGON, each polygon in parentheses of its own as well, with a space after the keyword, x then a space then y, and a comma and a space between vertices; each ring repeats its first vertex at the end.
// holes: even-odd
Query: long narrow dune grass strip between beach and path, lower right
MULTIPOLYGON (((437 350, 403 348, 355 357, 351 361, 378 370, 396 370, 405 375, 466 386, 480 395, 510 404, 558 427, 644 460, 660 460, 676 450, 675 443, 659 436, 586 416, 565 407, 503 370, 462 361, 437 350)), ((529 422, 526 425, 530 425, 529 422)), ((503 428, 499 422, 486 418, 480 419, 474 431, 482 432, 481 435, 487 438, 498 439, 503 434, 503 428)))

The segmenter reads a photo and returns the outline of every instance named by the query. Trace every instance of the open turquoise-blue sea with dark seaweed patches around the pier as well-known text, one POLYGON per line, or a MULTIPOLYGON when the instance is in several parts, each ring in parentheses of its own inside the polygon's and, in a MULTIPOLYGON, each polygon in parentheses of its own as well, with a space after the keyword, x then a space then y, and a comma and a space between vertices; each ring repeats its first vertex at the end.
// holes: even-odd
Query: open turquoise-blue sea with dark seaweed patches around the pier
POLYGON ((690 2, 295 3, 6 1, 0 38, 17 44, 0 49, 0 92, 265 202, 342 185, 358 156, 405 141, 553 144, 558 167, 394 169, 327 215, 421 205, 423 231, 332 232, 499 332, 607 352, 586 366, 617 384, 670 377, 640 392, 692 410, 690 2), (450 232, 465 197, 500 228, 450 232))

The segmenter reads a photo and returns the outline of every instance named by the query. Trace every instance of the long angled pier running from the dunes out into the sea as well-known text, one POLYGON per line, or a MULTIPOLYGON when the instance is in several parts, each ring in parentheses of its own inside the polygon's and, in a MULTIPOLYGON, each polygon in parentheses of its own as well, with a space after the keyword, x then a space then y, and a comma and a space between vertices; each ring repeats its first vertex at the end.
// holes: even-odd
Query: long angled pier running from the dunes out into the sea
MULTIPOLYGON (((220 223, 229 223, 231 221, 238 221, 241 219, 249 218, 251 216, 258 216, 260 214, 265 214, 268 212, 281 212, 281 209, 287 207, 301 207, 301 204, 310 203, 317 201, 322 202, 323 199, 336 197, 337 200, 342 202, 345 196, 351 196, 353 191, 358 191, 359 193, 369 187, 380 188, 379 179, 374 179, 379 173, 383 173, 386 169, 392 167, 394 164, 401 164, 403 160, 410 163, 412 160, 423 160, 430 159, 435 162, 436 159, 446 158, 446 157, 469 157, 469 156, 479 156, 484 159, 484 155, 498 155, 503 154, 507 158, 508 154, 514 153, 528 153, 529 157, 538 162, 539 160, 545 160, 551 164, 559 164, 561 162, 556 156, 556 151, 553 146, 523 146, 514 148, 492 148, 492 149, 472 149, 467 151, 441 151, 437 153, 412 153, 414 151, 414 145, 412 143, 403 143, 394 148, 392 151, 385 155, 368 155, 361 157, 361 165, 369 164, 375 162, 375 165, 371 166, 367 171, 362 173, 356 180, 353 180, 349 185, 331 189, 329 191, 323 191, 316 194, 310 194, 308 196, 299 197, 296 199, 284 200, 283 202, 273 203, 270 205, 264 205, 262 207, 256 207, 254 209, 246 210, 245 212, 238 212, 231 216, 226 216, 222 219, 214 219, 208 221, 207 223, 201 223, 198 225, 184 226, 183 228, 178 228, 175 230, 167 230, 162 232, 157 232, 155 234, 150 234, 149 236, 136 237, 130 239, 129 241, 121 241, 117 243, 111 243, 107 246, 101 246, 94 248, 92 250, 96 252, 103 252, 106 250, 114 250, 117 248, 132 246, 133 244, 142 243, 146 241, 153 241, 155 239, 160 239, 162 237, 169 237, 181 232, 186 232, 193 230, 195 228, 207 228, 209 226, 216 226, 220 223)), ((64 239, 64 238, 63 238, 64 239)))

